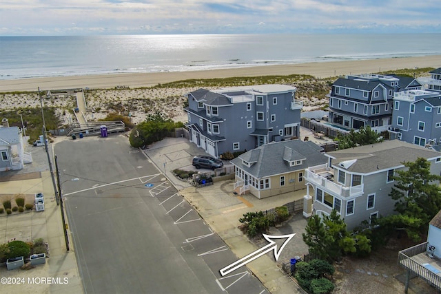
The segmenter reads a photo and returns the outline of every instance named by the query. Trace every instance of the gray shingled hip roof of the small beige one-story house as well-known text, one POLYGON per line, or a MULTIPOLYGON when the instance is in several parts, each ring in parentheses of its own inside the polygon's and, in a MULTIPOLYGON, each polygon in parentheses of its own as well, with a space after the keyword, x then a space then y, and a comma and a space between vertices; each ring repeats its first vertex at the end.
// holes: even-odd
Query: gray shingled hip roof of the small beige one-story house
POLYGON ((322 150, 322 147, 311 141, 287 140, 261 145, 241 154, 231 162, 255 178, 265 178, 322 165, 327 162, 327 157, 320 152, 322 150), (287 160, 302 160, 302 165, 290 167, 287 160), (242 161, 252 165, 247 167, 242 161))

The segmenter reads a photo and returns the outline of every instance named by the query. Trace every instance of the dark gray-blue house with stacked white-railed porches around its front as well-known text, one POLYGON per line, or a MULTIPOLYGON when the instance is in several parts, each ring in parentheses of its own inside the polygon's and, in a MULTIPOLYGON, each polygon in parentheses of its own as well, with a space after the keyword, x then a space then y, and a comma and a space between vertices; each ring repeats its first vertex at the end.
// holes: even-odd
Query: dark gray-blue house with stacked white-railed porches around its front
POLYGON ((393 94, 420 89, 415 78, 364 74, 338 78, 329 94, 329 122, 347 129, 370 126, 376 132, 391 126, 393 94))

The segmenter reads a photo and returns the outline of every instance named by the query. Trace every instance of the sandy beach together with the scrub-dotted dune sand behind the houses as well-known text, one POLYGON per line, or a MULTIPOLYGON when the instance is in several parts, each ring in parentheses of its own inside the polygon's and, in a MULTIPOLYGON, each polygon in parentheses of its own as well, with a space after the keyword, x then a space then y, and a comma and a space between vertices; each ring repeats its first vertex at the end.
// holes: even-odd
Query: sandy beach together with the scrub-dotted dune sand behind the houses
MULTIPOLYGON (((289 74, 309 74, 317 78, 343 76, 345 74, 367 74, 373 72, 413 69, 416 67, 441 67, 441 56, 409 57, 396 59, 373 59, 366 61, 335 61, 327 63, 302 63, 296 65, 268 65, 229 70, 208 70, 194 72, 161 72, 145 74, 107 74, 89 76, 57 76, 47 78, 26 78, 0 81, 0 110, 16 107, 40 107, 40 87, 43 96, 48 90, 89 89, 85 92, 88 121, 104 118, 110 112, 128 115, 132 123, 145 120, 146 114, 163 112, 174 121, 187 121, 183 111, 183 95, 199 87, 154 88, 159 83, 169 83, 187 79, 227 78, 232 76, 271 76, 289 74), (117 87, 117 89, 116 89, 117 87)), ((308 87, 322 87, 329 91, 329 83, 315 80, 294 83, 298 87, 296 98, 303 102, 302 111, 311 111, 327 106, 325 95, 305 94, 308 87)), ((207 89, 210 89, 207 87, 207 89)), ((56 109, 63 125, 75 122, 72 109, 76 107, 74 95, 46 97, 46 105, 56 109), (66 111, 68 110, 68 111, 66 111)))

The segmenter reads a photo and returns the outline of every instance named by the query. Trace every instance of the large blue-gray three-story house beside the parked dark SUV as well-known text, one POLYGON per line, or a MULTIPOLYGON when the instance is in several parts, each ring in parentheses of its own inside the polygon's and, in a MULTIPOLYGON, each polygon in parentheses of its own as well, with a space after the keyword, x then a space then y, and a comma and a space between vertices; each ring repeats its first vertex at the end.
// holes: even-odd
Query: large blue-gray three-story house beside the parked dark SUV
POLYGON ((189 140, 214 157, 300 136, 303 105, 296 100, 296 87, 199 89, 185 96, 189 140))

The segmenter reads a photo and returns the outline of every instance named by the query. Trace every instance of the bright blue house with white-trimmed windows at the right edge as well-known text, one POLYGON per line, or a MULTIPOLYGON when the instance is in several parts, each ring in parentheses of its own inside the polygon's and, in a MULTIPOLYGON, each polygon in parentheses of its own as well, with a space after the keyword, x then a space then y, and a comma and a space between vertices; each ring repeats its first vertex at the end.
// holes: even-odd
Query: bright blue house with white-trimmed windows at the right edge
POLYGON ((420 145, 441 142, 441 93, 427 90, 397 92, 393 96, 389 138, 420 145))

